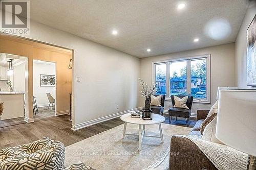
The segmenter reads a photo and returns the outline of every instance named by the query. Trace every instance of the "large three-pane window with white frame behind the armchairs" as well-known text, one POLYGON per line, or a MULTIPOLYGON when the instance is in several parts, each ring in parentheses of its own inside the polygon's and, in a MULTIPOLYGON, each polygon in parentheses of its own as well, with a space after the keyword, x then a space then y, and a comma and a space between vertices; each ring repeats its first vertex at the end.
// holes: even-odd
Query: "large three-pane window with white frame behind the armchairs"
POLYGON ((210 102, 210 56, 155 62, 156 94, 191 94, 195 102, 210 102), (169 81, 166 81, 169 80, 169 81))

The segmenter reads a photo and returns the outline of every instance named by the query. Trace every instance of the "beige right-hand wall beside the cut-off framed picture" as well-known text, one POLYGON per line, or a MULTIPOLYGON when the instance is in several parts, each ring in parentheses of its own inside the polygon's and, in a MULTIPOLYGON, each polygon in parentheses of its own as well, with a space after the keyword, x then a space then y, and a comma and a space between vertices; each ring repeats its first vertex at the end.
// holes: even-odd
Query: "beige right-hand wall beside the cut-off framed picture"
MULTIPOLYGON (((246 30, 256 14, 256 1, 251 1, 245 14, 242 26, 236 40, 236 78, 239 88, 251 88, 247 86, 247 66, 246 66, 246 30)), ((255 87, 254 87, 255 88, 255 87)))

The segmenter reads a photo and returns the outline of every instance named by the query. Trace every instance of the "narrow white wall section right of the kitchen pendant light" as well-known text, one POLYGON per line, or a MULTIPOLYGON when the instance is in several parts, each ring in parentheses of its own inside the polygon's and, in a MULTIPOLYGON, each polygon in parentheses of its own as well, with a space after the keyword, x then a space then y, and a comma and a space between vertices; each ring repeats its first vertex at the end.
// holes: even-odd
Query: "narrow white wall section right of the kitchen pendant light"
POLYGON ((25 65, 24 62, 13 67, 13 91, 25 92, 25 65))

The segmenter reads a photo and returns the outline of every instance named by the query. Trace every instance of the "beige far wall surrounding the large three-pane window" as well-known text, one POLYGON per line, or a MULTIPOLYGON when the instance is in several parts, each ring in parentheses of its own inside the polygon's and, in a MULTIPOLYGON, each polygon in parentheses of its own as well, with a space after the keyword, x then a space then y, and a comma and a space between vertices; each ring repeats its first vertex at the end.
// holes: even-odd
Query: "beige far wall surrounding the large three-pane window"
MULTIPOLYGON (((194 103, 192 113, 196 113, 198 109, 210 109, 216 102, 218 86, 232 87, 236 84, 234 75, 234 43, 142 58, 140 60, 141 79, 147 84, 152 83, 152 62, 205 54, 211 55, 211 104, 194 103)), ((144 98, 142 97, 140 97, 140 104, 142 106, 144 104, 144 98)), ((168 110, 170 107, 172 107, 172 102, 165 101, 164 109, 168 110)))

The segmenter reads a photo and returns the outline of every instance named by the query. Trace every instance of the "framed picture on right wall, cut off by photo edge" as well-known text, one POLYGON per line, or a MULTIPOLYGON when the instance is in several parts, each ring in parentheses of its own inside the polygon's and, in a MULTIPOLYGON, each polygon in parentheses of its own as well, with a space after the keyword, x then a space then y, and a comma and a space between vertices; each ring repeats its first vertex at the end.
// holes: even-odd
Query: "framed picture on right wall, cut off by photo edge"
POLYGON ((247 85, 256 86, 256 15, 247 29, 247 85))

